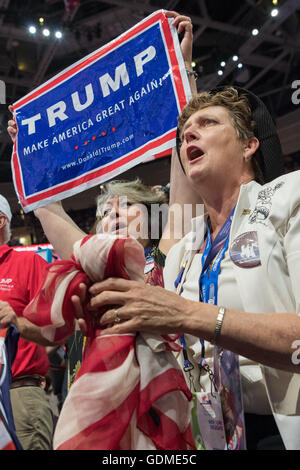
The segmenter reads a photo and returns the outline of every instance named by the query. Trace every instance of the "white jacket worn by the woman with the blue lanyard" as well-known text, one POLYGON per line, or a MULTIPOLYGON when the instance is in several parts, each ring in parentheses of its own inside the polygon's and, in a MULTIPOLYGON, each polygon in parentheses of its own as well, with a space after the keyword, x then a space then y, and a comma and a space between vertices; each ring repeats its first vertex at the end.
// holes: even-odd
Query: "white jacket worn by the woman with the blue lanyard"
MULTIPOLYGON (((193 219, 192 231, 169 251, 164 269, 167 289, 175 290, 174 280, 184 263, 188 270, 199 249, 199 232, 204 235, 204 224, 203 216, 193 219), (192 247, 196 234, 197 247, 192 247)), ((255 181, 241 186, 229 248, 239 235, 253 231, 257 232, 261 264, 251 268, 233 264, 244 311, 300 314, 300 171, 264 186, 255 181)), ((300 449, 300 366, 299 374, 261 369, 285 447, 300 449)))

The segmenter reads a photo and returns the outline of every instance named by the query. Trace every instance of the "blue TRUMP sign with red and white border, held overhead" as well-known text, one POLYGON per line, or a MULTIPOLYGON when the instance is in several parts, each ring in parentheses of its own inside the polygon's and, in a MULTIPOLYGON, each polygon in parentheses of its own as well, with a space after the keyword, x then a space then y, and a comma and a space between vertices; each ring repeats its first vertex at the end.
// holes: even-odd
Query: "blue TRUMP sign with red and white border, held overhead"
POLYGON ((153 13, 14 103, 12 170, 25 212, 175 146, 191 92, 171 22, 153 13))

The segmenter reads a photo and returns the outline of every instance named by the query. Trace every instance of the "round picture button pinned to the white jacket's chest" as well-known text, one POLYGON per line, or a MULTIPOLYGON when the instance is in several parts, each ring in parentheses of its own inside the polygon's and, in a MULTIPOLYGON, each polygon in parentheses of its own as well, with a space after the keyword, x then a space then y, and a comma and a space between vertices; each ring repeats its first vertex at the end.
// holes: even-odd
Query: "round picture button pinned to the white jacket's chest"
POLYGON ((254 268, 261 264, 257 232, 245 232, 231 244, 230 258, 240 268, 254 268))

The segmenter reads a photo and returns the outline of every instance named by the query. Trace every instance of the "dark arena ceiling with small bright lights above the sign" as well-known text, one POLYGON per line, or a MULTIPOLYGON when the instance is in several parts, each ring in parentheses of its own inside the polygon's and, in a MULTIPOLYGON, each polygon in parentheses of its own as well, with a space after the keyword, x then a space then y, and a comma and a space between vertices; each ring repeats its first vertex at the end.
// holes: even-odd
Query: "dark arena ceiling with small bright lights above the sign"
MULTIPOLYGON (((6 84, 6 103, 161 8, 192 18, 199 91, 236 84, 258 94, 274 118, 295 110, 291 84, 300 80, 300 0, 0 0, 0 80, 6 84), (74 6, 68 10, 66 4, 74 6), (271 16, 275 7, 278 15, 271 16), (41 17, 49 37, 40 31, 41 17), (28 32, 32 24, 34 35, 28 32), (259 32, 255 36, 253 29, 259 32), (54 38, 57 30, 61 39, 54 38)), ((1 105, 0 182, 11 181, 6 108, 1 105)))

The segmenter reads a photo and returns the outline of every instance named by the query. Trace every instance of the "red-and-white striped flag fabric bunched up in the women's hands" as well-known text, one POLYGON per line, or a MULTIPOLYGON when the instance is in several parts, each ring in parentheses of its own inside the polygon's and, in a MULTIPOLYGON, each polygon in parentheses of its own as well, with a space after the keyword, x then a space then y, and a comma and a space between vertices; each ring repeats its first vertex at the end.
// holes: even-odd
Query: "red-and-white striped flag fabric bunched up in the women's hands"
MULTIPOLYGON (((144 282, 144 266, 136 240, 87 236, 75 243, 73 261, 46 267, 44 285, 24 315, 47 338, 62 339, 74 329, 70 298, 80 282, 113 276, 144 282)), ((90 320, 89 346, 59 416, 54 449, 195 449, 191 393, 172 352, 177 336, 100 332, 90 320)))

